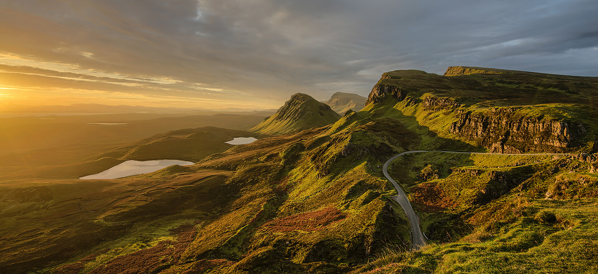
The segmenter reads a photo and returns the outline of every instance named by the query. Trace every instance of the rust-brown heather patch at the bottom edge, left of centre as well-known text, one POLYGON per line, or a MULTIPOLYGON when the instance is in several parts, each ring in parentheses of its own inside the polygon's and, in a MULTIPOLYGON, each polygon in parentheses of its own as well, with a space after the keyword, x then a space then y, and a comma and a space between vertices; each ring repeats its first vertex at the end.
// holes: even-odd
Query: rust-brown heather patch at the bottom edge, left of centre
POLYGON ((152 273, 167 269, 171 264, 181 258, 182 252, 195 238, 194 224, 183 224, 169 230, 171 235, 176 235, 176 241, 162 240, 151 248, 141 249, 130 254, 118 256, 103 266, 99 266, 91 274, 111 273, 152 273))

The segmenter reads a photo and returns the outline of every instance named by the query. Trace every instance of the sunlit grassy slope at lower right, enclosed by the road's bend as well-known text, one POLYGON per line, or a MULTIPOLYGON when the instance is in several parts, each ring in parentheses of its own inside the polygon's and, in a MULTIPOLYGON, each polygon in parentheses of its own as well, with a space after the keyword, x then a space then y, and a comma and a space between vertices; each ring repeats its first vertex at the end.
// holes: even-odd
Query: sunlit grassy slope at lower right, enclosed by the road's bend
POLYGON ((596 273, 597 168, 595 154, 409 156, 393 169, 432 245, 352 273, 596 273))

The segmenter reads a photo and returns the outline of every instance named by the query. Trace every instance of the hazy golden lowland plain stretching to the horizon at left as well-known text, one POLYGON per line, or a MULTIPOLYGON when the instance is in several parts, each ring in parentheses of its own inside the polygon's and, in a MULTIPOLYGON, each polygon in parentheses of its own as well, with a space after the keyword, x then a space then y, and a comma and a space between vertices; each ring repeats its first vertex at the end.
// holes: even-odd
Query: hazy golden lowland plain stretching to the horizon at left
MULTIPOLYGON (((48 116, 0 118, 0 179, 8 178, 78 178, 118 165, 124 155, 115 151, 131 145, 133 141, 149 138, 159 133, 179 129, 219 126, 233 130, 246 130, 260 123, 269 113, 258 115, 215 114, 103 114, 81 116, 48 116), (168 117, 172 115, 175 117, 168 117), (158 116, 158 118, 156 118, 158 116), (179 116, 179 117, 178 117, 179 116), (102 125, 88 123, 125 123, 102 125), (103 157, 116 159, 100 159, 103 157), (90 163, 93 162, 93 163, 90 163), (86 171, 89 169, 89 171, 86 171), (36 175, 41 172, 41 175, 36 175), (78 175, 78 176, 77 176, 78 175)), ((224 140, 225 142, 228 140, 224 140)), ((213 144, 212 144, 213 145, 213 144)), ((228 146, 229 148, 231 146, 228 146)), ((130 148, 132 149, 132 148, 130 148)), ((164 148, 163 151, 176 150, 164 148)), ((179 149, 181 150, 181 149, 179 149)), ((172 153, 174 154, 174 153, 172 153)), ((127 160, 154 160, 130 157, 127 160)), ((205 157, 205 156, 203 156, 205 157)), ((199 157, 202 159, 203 157, 199 157)), ((165 158, 160 158, 165 159, 165 158)), ((169 159, 199 160, 193 157, 169 159)))

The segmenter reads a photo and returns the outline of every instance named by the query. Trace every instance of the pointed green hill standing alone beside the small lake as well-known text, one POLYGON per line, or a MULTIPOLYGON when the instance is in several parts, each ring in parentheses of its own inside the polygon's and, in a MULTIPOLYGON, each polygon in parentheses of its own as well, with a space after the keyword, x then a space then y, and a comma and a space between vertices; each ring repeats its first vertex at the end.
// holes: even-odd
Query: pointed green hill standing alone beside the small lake
POLYGON ((267 117, 252 132, 267 135, 282 135, 300 132, 304 129, 332 124, 340 118, 330 106, 313 99, 312 96, 295 93, 276 114, 267 117))

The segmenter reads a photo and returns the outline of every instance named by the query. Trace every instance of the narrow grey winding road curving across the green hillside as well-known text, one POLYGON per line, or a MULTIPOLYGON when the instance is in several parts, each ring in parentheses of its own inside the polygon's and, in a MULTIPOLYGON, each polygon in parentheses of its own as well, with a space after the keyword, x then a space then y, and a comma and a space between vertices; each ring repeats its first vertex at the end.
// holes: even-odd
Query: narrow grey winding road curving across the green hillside
POLYGON ((397 202, 399 205, 401 205, 401 207, 405 211, 405 214, 407 215, 407 218, 409 219, 409 223, 411 225, 411 247, 413 249, 419 249, 422 246, 425 246, 426 238, 423 235, 422 230, 419 227, 419 217, 417 217, 417 214, 415 213, 415 211, 413 211, 413 207, 411 206, 411 203, 409 202, 407 195, 405 195, 405 192, 401 189, 399 184, 396 183, 395 179, 390 177, 390 175, 388 173, 388 166, 390 165, 390 163, 392 161, 394 161, 398 157, 401 157, 405 154, 422 153, 422 152, 445 152, 445 153, 460 153, 460 154, 494 154, 494 155, 562 155, 562 156, 576 155, 576 154, 570 154, 570 153, 502 154, 502 153, 481 153, 481 152, 462 152, 462 151, 444 151, 444 150, 411 150, 411 151, 405 151, 404 153, 397 154, 397 155, 393 156, 392 158, 388 159, 388 161, 386 161, 386 163, 384 163, 384 166, 382 167, 382 172, 384 173, 384 176, 386 176, 386 179, 388 179, 390 182, 392 182, 392 184, 396 188, 396 196, 392 196, 392 197, 390 197, 390 199, 395 200, 395 202, 397 202))

